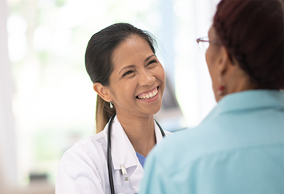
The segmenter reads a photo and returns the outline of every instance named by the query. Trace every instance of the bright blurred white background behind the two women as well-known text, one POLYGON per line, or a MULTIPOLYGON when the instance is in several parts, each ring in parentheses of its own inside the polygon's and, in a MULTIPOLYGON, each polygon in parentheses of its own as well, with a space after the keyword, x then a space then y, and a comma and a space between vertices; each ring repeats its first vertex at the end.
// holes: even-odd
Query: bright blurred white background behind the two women
POLYGON ((169 131, 198 125, 216 102, 205 56, 219 0, 0 0, 0 193, 54 193, 59 161, 95 132, 96 92, 84 64, 90 37, 130 22, 159 41, 169 131))

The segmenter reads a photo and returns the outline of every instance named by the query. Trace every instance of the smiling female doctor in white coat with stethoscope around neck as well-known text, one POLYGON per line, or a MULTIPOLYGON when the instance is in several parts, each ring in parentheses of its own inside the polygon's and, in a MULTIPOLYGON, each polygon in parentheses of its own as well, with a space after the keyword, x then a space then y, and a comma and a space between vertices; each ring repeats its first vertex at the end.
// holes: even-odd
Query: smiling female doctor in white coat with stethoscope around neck
POLYGON ((154 39, 116 23, 91 37, 85 65, 98 93, 97 134, 64 153, 56 193, 137 193, 146 156, 169 134, 153 118, 165 87, 154 39))

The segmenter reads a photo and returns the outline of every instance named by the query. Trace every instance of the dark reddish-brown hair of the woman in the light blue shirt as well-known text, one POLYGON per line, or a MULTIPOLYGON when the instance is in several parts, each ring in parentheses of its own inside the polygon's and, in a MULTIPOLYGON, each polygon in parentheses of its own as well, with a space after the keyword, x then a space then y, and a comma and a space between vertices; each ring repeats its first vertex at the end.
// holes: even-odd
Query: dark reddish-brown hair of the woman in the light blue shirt
POLYGON ((283 1, 226 1, 213 27, 228 54, 259 89, 283 89, 283 1))

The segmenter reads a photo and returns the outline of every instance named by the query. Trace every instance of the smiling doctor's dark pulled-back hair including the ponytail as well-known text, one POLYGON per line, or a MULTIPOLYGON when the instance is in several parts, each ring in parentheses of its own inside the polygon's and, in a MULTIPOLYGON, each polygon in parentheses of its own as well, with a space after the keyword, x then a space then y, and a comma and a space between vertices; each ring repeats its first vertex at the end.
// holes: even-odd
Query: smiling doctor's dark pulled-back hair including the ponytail
MULTIPOLYGON (((85 65, 93 83, 109 86, 109 77, 113 71, 113 51, 131 36, 139 36, 145 39, 155 54, 155 39, 153 36, 129 23, 115 23, 91 37, 86 48, 85 65)), ((97 95, 97 133, 104 129, 113 113, 115 113, 115 107, 111 109, 109 103, 97 95)))

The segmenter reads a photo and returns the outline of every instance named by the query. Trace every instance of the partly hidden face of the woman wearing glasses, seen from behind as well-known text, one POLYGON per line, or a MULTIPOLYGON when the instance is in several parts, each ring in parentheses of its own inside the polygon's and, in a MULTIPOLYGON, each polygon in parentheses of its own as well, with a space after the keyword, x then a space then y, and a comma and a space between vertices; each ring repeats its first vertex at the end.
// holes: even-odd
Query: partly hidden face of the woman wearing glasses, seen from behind
MULTIPOLYGON (((209 40, 217 41, 217 35, 214 27, 211 27, 208 31, 209 40)), ((220 60, 220 45, 209 43, 209 47, 205 54, 206 63, 208 66, 209 74, 212 80, 212 88, 215 94, 215 99, 218 102, 220 100, 219 95, 217 94, 217 88, 219 85, 218 81, 218 62, 220 60)))

